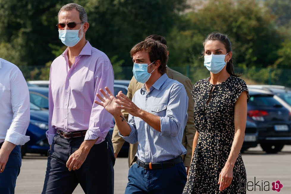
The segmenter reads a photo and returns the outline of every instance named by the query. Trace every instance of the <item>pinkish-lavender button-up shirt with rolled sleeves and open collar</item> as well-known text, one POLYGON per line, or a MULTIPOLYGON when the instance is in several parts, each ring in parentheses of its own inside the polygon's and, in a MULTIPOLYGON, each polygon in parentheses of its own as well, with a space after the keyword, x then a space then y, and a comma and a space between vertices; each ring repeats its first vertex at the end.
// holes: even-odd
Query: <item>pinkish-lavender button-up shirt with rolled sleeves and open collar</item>
MULTIPOLYGON (((102 106, 96 93, 107 86, 113 90, 114 74, 105 53, 86 43, 75 63, 69 67, 68 49, 51 64, 49 83, 49 128, 51 145, 56 130, 75 132, 87 130, 85 140, 104 141, 113 127, 113 117, 102 106)), ((99 92, 100 93, 100 92, 99 92)))

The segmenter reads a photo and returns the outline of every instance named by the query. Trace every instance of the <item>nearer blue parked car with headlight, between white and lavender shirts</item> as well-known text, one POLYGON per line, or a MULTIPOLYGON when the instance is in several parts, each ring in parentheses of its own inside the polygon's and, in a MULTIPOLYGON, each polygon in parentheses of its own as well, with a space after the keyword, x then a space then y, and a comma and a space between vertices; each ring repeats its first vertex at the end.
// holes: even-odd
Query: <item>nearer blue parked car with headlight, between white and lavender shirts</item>
POLYGON ((30 102, 30 122, 26 135, 30 141, 21 146, 22 157, 26 153, 46 154, 49 149, 45 132, 48 130, 48 110, 43 110, 30 102))

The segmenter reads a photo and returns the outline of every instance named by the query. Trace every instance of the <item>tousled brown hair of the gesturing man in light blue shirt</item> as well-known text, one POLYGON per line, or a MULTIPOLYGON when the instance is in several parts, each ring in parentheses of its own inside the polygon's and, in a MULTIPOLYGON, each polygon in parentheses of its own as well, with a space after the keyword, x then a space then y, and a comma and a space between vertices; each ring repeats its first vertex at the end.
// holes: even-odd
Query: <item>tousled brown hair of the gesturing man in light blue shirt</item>
POLYGON ((131 58, 133 58, 133 55, 135 55, 139 51, 147 51, 149 53, 151 62, 160 60, 161 65, 159 66, 158 71, 162 75, 167 72, 166 65, 168 61, 168 56, 166 45, 153 39, 144 40, 134 45, 134 47, 130 50, 131 58))

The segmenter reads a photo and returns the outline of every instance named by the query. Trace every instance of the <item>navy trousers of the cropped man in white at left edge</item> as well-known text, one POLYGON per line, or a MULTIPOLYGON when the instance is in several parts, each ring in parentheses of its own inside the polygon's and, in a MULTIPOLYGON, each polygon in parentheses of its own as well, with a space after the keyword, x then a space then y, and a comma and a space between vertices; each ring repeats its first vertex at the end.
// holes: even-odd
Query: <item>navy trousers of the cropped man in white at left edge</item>
POLYGON ((11 151, 5 169, 0 173, 0 193, 14 193, 16 178, 21 167, 20 146, 15 146, 11 151))

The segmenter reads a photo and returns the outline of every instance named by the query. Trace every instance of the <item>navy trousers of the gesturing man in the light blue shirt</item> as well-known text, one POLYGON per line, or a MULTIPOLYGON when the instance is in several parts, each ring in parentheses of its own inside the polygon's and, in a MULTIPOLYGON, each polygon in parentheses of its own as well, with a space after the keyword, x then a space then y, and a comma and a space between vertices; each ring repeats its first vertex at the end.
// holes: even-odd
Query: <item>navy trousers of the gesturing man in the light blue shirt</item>
POLYGON ((144 169, 135 163, 128 171, 125 194, 182 194, 186 181, 182 162, 160 169, 144 169))

